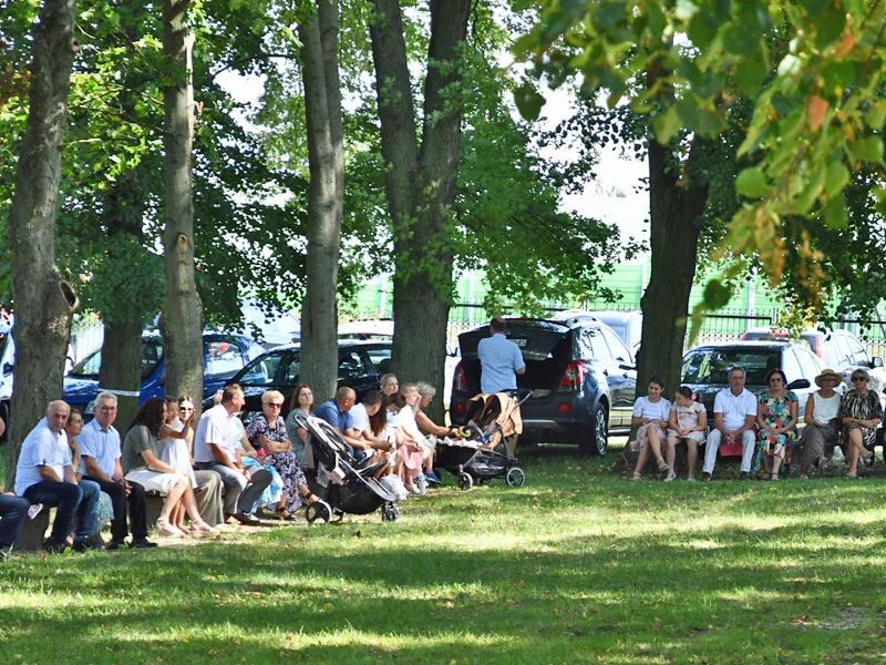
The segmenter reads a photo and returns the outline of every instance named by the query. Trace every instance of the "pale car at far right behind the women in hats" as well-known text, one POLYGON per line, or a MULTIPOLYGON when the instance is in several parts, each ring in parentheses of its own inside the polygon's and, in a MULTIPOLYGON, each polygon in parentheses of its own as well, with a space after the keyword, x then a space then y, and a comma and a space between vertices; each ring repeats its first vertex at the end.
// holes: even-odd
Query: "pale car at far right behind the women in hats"
MULTIPOLYGON (((751 328, 741 336, 743 340, 775 340, 789 341, 786 330, 773 330, 770 326, 751 328)), ((883 358, 870 358, 867 349, 855 335, 842 328, 806 328, 796 338, 796 344, 806 345, 822 362, 823 367, 830 367, 843 377, 844 389, 852 388, 849 377, 856 368, 874 370, 872 390, 878 393, 883 389, 884 371, 883 358)))

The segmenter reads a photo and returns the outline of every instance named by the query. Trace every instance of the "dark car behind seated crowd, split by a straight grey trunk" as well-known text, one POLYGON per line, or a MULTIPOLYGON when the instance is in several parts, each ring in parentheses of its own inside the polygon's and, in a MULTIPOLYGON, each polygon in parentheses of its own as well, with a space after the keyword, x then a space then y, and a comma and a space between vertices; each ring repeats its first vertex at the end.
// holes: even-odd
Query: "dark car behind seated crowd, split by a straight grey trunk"
MULTIPOLYGON (((280 415, 289 412, 289 401, 296 386, 301 383, 299 371, 300 344, 280 346, 261 354, 246 367, 235 374, 225 383, 239 383, 243 387, 246 405, 243 408, 243 420, 248 422, 256 413, 261 412, 261 393, 266 390, 279 390, 284 395, 284 408, 280 415)), ((391 364, 391 342, 384 340, 362 341, 356 339, 339 340, 339 380, 338 386, 349 386, 357 392, 358 399, 367 390, 378 390, 380 380, 391 364)), ((331 396, 315 393, 315 406, 331 396)), ((213 406, 213 395, 208 395, 203 408, 213 406)))

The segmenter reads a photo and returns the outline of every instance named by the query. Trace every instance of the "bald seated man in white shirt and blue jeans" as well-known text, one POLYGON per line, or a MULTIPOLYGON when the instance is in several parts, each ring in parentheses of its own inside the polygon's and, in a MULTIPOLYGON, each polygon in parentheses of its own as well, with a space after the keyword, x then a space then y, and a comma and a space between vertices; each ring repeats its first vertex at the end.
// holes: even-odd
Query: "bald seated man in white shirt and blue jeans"
POLYGON ((22 442, 16 468, 16 493, 19 497, 31 503, 55 507, 52 533, 43 543, 43 549, 50 553, 63 552, 66 548, 74 513, 78 516, 74 551, 104 549, 101 536, 93 533, 101 490, 90 480, 78 482, 71 468, 71 447, 64 433, 70 412, 65 402, 50 402, 47 417, 22 442))

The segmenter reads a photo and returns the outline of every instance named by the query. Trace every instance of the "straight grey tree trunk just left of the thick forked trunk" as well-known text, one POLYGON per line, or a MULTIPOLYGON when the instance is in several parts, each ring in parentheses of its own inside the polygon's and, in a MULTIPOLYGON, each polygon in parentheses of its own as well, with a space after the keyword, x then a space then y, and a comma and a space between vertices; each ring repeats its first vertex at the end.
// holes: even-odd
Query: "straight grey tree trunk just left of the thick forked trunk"
POLYGON ((332 397, 338 378, 339 238, 344 197, 336 0, 320 0, 299 37, 308 127, 307 289, 301 305, 302 382, 319 401, 332 397))

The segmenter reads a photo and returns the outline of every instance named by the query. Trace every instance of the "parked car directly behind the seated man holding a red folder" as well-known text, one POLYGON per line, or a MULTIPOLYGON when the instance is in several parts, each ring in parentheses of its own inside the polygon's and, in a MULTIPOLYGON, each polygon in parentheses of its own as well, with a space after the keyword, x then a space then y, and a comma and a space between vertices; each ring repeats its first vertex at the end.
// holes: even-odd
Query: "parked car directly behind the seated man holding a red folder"
POLYGON ((701 396, 711 427, 714 397, 723 388, 729 388, 729 370, 736 365, 744 368, 744 387, 754 395, 769 389, 764 381, 771 369, 784 371, 786 388, 793 390, 800 400, 800 421, 803 421, 806 401, 818 389, 815 377, 822 372, 822 364, 817 356, 806 345, 734 341, 698 346, 683 356, 683 385, 701 396))

